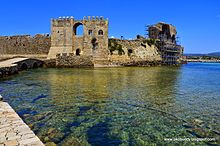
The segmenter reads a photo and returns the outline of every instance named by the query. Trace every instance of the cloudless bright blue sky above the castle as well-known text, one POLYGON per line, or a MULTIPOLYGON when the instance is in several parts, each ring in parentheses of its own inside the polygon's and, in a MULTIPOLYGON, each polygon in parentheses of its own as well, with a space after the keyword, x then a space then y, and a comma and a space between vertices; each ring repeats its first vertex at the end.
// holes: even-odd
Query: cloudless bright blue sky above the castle
POLYGON ((219 0, 10 0, 1 1, 0 35, 50 33, 59 16, 109 18, 109 37, 134 38, 159 21, 177 27, 185 53, 220 52, 219 0))

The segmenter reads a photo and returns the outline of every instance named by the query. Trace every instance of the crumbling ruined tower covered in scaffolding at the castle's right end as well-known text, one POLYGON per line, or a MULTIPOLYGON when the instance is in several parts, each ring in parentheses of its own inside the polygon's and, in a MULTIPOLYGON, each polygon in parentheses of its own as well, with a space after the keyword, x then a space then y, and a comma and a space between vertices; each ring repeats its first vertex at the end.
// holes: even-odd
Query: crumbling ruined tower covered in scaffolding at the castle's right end
POLYGON ((176 28, 163 22, 148 28, 149 38, 156 40, 163 64, 179 64, 183 47, 177 44, 176 28))

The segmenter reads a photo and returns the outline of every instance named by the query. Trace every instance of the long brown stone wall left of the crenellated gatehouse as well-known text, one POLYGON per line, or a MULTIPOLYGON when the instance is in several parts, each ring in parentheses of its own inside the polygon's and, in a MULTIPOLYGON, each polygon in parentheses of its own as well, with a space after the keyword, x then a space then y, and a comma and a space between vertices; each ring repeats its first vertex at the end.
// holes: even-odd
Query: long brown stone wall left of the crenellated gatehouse
POLYGON ((0 55, 47 55, 50 49, 50 36, 37 34, 0 36, 0 55))

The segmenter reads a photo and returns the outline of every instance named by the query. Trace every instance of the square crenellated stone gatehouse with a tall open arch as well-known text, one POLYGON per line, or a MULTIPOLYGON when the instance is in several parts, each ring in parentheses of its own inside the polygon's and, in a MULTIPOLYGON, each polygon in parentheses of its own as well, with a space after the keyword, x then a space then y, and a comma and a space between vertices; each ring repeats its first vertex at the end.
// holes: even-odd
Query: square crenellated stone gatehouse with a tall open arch
POLYGON ((51 48, 48 59, 57 54, 93 56, 94 59, 108 59, 108 20, 103 17, 60 17, 51 20, 51 48), (83 26, 83 35, 77 35, 77 28, 83 26))

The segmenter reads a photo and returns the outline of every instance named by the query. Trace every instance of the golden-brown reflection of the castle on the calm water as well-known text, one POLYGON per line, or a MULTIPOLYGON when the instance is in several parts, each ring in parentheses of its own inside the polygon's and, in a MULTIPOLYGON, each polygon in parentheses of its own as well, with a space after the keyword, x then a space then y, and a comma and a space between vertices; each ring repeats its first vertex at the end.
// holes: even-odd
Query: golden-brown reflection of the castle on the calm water
POLYGON ((161 67, 65 69, 49 71, 46 80, 52 100, 58 105, 125 98, 165 106, 175 102, 178 74, 178 68, 161 67))

